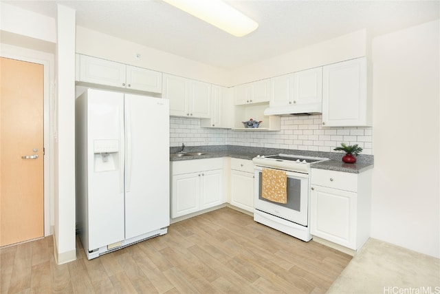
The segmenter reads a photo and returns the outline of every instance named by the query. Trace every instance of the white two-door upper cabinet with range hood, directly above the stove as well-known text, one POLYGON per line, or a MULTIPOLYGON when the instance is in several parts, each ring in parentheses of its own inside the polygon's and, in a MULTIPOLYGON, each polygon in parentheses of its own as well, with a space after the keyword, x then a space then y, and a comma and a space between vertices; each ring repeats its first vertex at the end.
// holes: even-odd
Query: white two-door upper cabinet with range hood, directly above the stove
POLYGON ((322 67, 270 78, 266 115, 322 112, 322 67))

